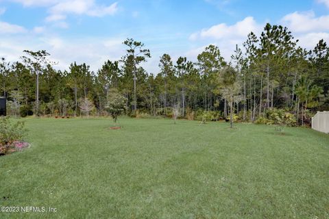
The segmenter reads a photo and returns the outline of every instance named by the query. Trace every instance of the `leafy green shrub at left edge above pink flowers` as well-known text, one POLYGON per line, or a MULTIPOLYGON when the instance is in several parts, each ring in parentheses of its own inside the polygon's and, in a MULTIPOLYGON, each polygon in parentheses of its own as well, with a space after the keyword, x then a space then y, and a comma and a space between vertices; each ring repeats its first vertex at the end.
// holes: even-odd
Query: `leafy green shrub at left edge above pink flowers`
POLYGON ((0 154, 10 153, 12 143, 23 138, 24 126, 22 121, 11 123, 9 117, 0 118, 0 154))

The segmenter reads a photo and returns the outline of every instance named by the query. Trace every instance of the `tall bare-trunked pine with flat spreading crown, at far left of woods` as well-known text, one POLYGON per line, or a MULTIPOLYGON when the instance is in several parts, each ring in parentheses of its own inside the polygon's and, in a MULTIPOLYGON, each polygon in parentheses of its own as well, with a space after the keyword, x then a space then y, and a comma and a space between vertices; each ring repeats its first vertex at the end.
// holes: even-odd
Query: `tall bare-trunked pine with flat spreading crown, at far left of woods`
POLYGON ((23 62, 27 65, 33 73, 36 74, 36 115, 39 115, 39 75, 42 73, 42 68, 45 68, 47 64, 50 64, 47 57, 50 55, 45 50, 40 51, 28 51, 24 50, 27 56, 22 56, 23 62))

